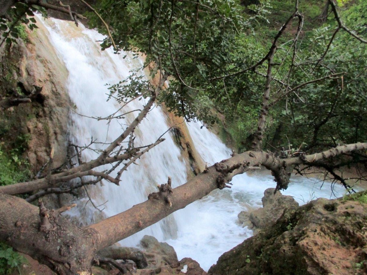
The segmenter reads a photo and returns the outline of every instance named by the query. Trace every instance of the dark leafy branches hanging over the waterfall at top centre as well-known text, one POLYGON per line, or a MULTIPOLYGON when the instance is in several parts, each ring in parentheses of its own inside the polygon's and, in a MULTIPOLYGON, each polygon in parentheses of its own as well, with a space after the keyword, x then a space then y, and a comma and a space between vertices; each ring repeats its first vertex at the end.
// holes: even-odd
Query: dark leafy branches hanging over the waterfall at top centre
MULTIPOLYGON (((146 64, 174 76, 160 102, 188 120, 214 122, 210 79, 238 62, 237 37, 263 17, 262 7, 254 7, 256 15, 250 17, 234 0, 101 1, 99 12, 113 29, 117 51, 144 52, 146 64)), ((106 38, 102 46, 110 42, 106 38)))

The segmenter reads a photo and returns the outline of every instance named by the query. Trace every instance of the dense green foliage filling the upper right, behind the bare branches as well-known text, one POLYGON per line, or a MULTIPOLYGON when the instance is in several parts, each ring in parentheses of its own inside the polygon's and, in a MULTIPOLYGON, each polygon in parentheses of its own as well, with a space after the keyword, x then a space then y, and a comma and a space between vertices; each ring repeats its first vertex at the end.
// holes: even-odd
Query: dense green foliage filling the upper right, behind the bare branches
MULTIPOLYGON (((219 111, 225 115, 224 127, 245 150, 257 126, 267 61, 221 76, 261 60, 295 8, 291 0, 247 2, 258 5, 234 0, 104 0, 99 11, 113 29, 117 51, 144 52, 147 64, 154 62, 174 77, 161 102, 178 115, 206 122, 216 121, 213 114, 219 111)), ((330 6, 326 20, 320 18, 326 4, 300 1, 304 24, 297 43, 297 20, 280 37, 270 90, 270 102, 276 103, 268 116, 265 147, 316 151, 365 140, 367 47, 342 30, 333 37, 338 24, 330 6), (343 74, 284 96, 290 87, 335 73, 343 74)), ((344 24, 366 37, 366 2, 338 5, 344 24)), ((103 46, 110 46, 108 38, 103 46)))

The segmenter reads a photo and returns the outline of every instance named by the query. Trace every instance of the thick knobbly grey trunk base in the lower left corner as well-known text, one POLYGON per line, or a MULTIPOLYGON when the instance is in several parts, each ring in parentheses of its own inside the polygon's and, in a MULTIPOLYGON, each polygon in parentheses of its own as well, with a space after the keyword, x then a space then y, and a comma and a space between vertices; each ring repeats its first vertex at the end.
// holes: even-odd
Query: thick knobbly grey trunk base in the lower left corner
POLYGON ((91 274, 98 239, 59 216, 0 193, 0 240, 48 265, 58 274, 91 274))

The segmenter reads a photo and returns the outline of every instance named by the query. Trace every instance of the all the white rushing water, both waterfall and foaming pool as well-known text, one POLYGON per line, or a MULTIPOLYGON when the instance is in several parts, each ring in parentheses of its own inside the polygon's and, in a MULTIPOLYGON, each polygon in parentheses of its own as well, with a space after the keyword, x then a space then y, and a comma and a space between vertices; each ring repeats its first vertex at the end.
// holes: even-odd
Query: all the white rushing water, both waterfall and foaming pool
MULTIPOLYGON (((123 58, 124 54, 115 55, 110 49, 100 51, 96 41, 102 40, 103 36, 82 25, 77 28, 71 22, 56 19, 42 22, 50 32, 51 43, 69 71, 69 95, 75 104, 72 107, 75 112, 70 114, 70 140, 78 145, 89 144, 91 137, 98 142, 111 142, 120 135, 137 112, 126 115, 124 120, 113 120, 109 125, 106 125, 105 120, 97 121, 76 113, 106 117, 119 109, 119 104, 115 100, 106 101, 108 86, 105 84, 115 84, 127 78, 130 70, 142 67, 142 60, 129 54, 123 58)), ((140 73, 146 77, 143 71, 140 73)), ((142 104, 140 101, 132 102, 123 112, 139 109, 142 104)), ((155 142, 168 128, 160 107, 153 108, 135 131, 137 136, 135 145, 155 142)), ((200 125, 192 123, 189 125, 189 131, 197 151, 208 164, 212 165, 230 157, 229 148, 205 127, 200 129, 200 125)), ((107 216, 115 215, 145 201, 150 192, 157 191, 156 185, 165 183, 168 176, 172 177, 174 187, 187 181, 187 164, 181 157, 180 149, 169 132, 164 137, 166 140, 163 143, 139 159, 139 166, 131 165, 123 173, 120 186, 106 182, 104 186, 91 191, 96 205, 108 200, 104 204, 107 216)), ((101 144, 92 146, 103 147, 101 144)), ((84 152, 86 160, 94 159, 98 155, 92 150, 84 152)), ((166 241, 172 245, 179 259, 191 257, 208 270, 222 253, 252 235, 251 230, 236 223, 237 214, 246 210, 247 206, 260 207, 264 190, 275 186, 270 176, 238 175, 233 178, 232 183, 231 189, 215 190, 159 223, 122 240, 121 244, 136 246, 143 235, 152 235, 159 241, 166 241)), ((315 180, 293 177, 288 190, 283 193, 294 196, 300 203, 309 201, 309 197, 330 198, 330 185, 325 184, 324 188, 319 190, 314 183, 315 180)), ((334 193, 341 196, 344 190, 335 186, 334 193)), ((90 209, 92 213, 94 210, 90 209)), ((93 222, 92 214, 90 222, 93 222)))

